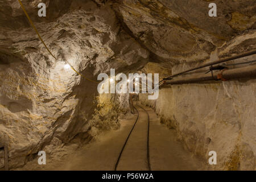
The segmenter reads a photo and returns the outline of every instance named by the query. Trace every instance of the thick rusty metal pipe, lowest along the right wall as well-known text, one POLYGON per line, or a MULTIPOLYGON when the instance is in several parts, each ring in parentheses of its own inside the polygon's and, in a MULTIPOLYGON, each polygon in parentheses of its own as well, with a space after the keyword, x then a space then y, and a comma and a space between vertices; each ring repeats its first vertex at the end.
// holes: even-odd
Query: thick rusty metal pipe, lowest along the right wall
MULTIPOLYGON (((256 78, 256 65, 235 69, 224 69, 220 72, 207 73, 207 74, 195 74, 193 76, 175 78, 173 80, 166 81, 164 85, 180 85, 190 84, 202 81, 218 81, 218 80, 236 80, 238 78, 256 78)), ((161 86, 162 87, 162 86, 161 86)))

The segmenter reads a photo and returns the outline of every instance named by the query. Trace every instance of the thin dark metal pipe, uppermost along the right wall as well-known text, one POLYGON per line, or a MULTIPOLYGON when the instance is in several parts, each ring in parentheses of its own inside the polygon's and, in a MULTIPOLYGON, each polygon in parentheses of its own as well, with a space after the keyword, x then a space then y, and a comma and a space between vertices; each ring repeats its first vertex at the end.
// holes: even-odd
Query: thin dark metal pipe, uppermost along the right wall
POLYGON ((179 75, 187 73, 187 72, 195 71, 196 69, 201 69, 201 68, 209 67, 210 65, 220 64, 220 63, 224 63, 226 61, 232 61, 232 60, 235 60, 235 59, 238 59, 238 58, 241 58, 241 57, 251 56, 251 55, 254 55, 254 54, 256 54, 256 50, 250 51, 250 52, 246 52, 246 53, 242 53, 242 54, 237 55, 237 56, 232 56, 232 57, 228 57, 228 58, 225 58, 225 59, 213 61, 211 63, 203 64, 203 65, 201 65, 199 67, 196 67, 196 68, 192 68, 192 69, 188 69, 186 71, 180 72, 180 73, 176 73, 176 74, 174 74, 174 75, 172 75, 170 77, 164 78, 163 80, 170 80, 173 77, 179 76, 179 75))

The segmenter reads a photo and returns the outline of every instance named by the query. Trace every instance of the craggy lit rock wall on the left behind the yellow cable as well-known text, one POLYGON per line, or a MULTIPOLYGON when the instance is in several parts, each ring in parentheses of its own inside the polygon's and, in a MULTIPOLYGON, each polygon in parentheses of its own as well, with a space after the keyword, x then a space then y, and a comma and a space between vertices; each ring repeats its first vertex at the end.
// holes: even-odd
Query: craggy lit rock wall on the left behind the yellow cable
POLYGON ((22 1, 55 60, 17 2, 0 3, 6 10, 0 13, 0 143, 9 148, 10 168, 23 166, 51 140, 61 145, 93 135, 97 83, 64 69, 63 60, 97 81, 110 68, 118 73, 143 67, 149 55, 109 6, 45 1, 47 18, 40 19, 36 2, 22 1))

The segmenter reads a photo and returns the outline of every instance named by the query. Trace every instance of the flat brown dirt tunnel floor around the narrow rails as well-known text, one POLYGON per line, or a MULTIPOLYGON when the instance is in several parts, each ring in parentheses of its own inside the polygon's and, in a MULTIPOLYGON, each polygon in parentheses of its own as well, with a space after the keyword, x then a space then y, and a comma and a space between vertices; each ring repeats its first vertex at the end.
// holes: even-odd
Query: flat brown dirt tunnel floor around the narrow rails
MULTIPOLYGON (((147 170, 147 114, 140 107, 139 119, 127 142, 117 170, 147 170)), ((150 115, 150 162, 152 170, 202 170, 205 162, 196 158, 176 138, 175 130, 160 123, 158 116, 143 106, 150 115)), ((47 155, 47 164, 37 159, 18 170, 113 170, 123 143, 137 115, 121 121, 118 130, 99 135, 93 142, 77 148, 75 144, 47 155)))

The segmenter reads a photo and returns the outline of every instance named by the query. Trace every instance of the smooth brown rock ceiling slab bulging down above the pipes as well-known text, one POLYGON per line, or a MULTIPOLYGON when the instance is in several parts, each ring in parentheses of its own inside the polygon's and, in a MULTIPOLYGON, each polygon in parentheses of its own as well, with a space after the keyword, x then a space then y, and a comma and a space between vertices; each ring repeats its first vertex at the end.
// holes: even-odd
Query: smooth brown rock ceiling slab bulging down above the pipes
POLYGON ((208 59, 210 52, 256 24, 256 4, 214 1, 217 17, 208 16, 211 1, 125 0, 113 8, 154 59, 171 63, 208 59))

